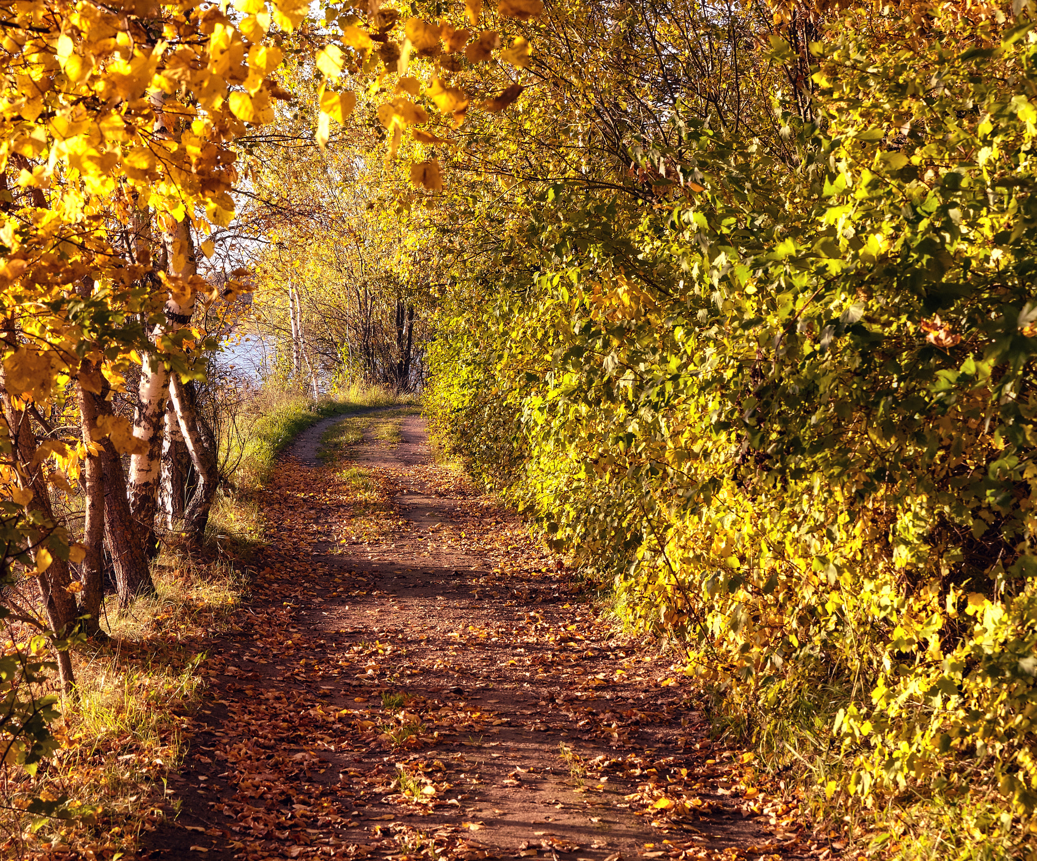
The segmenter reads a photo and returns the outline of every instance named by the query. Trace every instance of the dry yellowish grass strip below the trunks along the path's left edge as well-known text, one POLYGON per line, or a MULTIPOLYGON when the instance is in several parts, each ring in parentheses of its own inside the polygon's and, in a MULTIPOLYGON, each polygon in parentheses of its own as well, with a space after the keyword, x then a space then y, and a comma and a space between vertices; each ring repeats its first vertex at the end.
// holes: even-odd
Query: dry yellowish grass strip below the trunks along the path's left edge
POLYGON ((183 757, 180 716, 205 689, 203 641, 232 625, 247 590, 242 556, 259 528, 248 498, 224 496, 214 508, 205 561, 164 554, 152 571, 153 597, 121 615, 108 599, 101 623, 110 641, 82 644, 73 655, 76 698, 52 727, 60 750, 35 776, 3 767, 0 855, 89 850, 111 859, 132 853, 141 833, 175 809, 165 803, 165 778, 183 757), (36 816, 20 809, 31 798, 67 798, 97 812, 36 816))

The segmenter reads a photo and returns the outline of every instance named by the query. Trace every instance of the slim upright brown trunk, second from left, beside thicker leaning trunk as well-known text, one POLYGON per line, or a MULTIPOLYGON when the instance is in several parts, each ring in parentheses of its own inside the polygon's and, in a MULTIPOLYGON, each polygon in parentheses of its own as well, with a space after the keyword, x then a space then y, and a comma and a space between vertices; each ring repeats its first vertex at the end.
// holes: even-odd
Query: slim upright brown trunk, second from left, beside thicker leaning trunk
POLYGON ((82 618, 80 630, 90 637, 97 637, 101 633, 101 602, 105 598, 105 476, 101 453, 89 453, 91 448, 97 446, 93 438, 97 428, 97 406, 94 394, 84 388, 83 381, 97 377, 100 373, 93 364, 84 360, 80 368, 79 415, 83 443, 88 450, 83 462, 86 509, 83 544, 86 546, 86 555, 80 566, 83 591, 79 594, 79 612, 82 618))

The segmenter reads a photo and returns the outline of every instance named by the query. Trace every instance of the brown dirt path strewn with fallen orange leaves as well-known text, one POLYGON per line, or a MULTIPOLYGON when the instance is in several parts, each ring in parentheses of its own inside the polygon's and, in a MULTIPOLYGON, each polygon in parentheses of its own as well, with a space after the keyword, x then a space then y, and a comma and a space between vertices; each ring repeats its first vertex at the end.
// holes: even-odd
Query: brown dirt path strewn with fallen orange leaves
POLYGON ((146 857, 830 852, 708 740, 672 656, 599 621, 520 523, 431 462, 419 417, 365 420, 348 462, 316 465, 342 421, 298 440, 263 494, 271 545, 237 630, 207 643, 169 781, 180 813, 146 857))

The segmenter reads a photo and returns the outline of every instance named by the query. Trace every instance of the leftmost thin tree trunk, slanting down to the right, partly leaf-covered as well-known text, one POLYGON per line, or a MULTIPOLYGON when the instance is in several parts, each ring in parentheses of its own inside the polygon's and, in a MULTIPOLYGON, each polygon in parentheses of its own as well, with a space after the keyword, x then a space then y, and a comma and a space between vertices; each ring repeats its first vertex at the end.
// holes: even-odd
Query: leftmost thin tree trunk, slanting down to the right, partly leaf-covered
MULTIPOLYGON (((20 471, 23 478, 20 480, 20 484, 23 489, 32 491, 32 499, 26 505, 26 510, 37 511, 44 515, 46 521, 54 523, 51 491, 44 475, 43 464, 33 466, 36 457, 36 435, 32 430, 29 415, 24 409, 16 407, 6 388, 0 388, 0 400, 3 403, 4 420, 10 434, 13 455, 21 466, 20 471), (28 479, 24 477, 28 477, 28 479)), ((41 549, 43 547, 36 547, 32 550, 32 558, 37 566, 41 549)), ((72 583, 68 563, 56 556, 53 557, 46 570, 36 576, 36 582, 39 584, 39 592, 44 598, 47 621, 51 630, 59 639, 68 636, 73 632, 78 614, 76 600, 67 589, 72 583)), ((72 658, 67 650, 55 650, 55 653, 61 692, 64 696, 71 696, 76 684, 72 658)))

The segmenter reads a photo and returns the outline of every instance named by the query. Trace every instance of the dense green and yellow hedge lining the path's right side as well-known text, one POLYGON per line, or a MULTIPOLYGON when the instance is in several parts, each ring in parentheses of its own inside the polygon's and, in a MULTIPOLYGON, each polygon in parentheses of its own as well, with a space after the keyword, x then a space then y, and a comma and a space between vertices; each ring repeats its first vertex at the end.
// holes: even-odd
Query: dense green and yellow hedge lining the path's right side
POLYGON ((678 111, 530 197, 428 404, 830 811, 1037 857, 1037 42, 952 7, 843 12, 784 161, 678 111))

